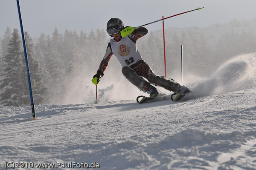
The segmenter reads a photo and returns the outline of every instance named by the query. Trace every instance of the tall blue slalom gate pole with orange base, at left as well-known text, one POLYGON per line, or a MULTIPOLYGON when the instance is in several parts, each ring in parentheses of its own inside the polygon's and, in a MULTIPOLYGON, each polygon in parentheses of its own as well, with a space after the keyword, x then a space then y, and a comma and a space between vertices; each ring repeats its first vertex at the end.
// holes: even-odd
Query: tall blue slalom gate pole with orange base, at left
POLYGON ((30 74, 29 74, 29 62, 28 62, 27 52, 26 52, 26 42, 25 42, 25 36, 24 36, 21 13, 20 13, 19 0, 17 0, 17 7, 18 7, 18 12, 19 12, 19 17, 20 17, 20 29, 21 29, 23 48, 24 48, 24 54, 25 54, 25 60, 26 60, 26 70, 27 70, 28 81, 29 81, 29 92, 30 92, 30 100, 31 100, 31 108, 32 108, 32 117, 33 117, 33 119, 36 119, 35 118, 35 106, 34 106, 34 101, 33 101, 32 87, 31 87, 30 74))

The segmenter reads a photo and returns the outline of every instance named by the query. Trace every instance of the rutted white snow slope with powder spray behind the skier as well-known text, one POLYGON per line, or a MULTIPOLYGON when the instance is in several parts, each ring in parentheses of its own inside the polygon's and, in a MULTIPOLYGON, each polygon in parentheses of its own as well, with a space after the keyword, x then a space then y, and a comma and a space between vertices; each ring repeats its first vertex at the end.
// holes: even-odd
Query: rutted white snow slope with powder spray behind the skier
POLYGON ((186 101, 40 105, 36 121, 31 107, 0 106, 0 167, 76 161, 101 170, 255 170, 256 54, 198 80, 187 84, 186 101))

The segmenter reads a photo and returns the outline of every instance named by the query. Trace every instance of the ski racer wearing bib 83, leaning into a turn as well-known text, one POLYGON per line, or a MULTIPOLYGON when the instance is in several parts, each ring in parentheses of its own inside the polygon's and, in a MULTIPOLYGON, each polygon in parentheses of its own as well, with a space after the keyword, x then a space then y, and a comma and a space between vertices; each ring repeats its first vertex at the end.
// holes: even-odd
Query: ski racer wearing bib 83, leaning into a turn
MULTIPOLYGON (((126 27, 125 27, 126 28, 126 27)), ((160 94, 151 84, 161 86, 169 91, 187 94, 191 92, 187 87, 180 86, 173 79, 156 75, 151 67, 143 60, 137 49, 137 40, 148 33, 144 27, 134 29, 127 37, 122 37, 120 31, 124 28, 124 23, 119 18, 111 18, 107 23, 107 32, 112 37, 105 53, 103 60, 99 65, 97 74, 93 78, 99 79, 104 75, 104 71, 108 66, 111 56, 114 54, 122 65, 122 74, 132 84, 137 86, 143 92, 147 92, 150 97, 156 97, 160 94), (146 81, 144 78, 148 81, 146 81)))

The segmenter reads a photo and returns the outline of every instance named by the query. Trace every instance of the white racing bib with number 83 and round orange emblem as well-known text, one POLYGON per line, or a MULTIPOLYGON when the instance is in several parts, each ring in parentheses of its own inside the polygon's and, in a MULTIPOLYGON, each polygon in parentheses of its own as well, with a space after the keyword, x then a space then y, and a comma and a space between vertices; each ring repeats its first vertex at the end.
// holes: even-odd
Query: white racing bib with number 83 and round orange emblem
POLYGON ((137 61, 142 60, 137 44, 129 37, 122 37, 122 40, 116 42, 110 40, 113 55, 116 56, 122 67, 131 66, 137 61))

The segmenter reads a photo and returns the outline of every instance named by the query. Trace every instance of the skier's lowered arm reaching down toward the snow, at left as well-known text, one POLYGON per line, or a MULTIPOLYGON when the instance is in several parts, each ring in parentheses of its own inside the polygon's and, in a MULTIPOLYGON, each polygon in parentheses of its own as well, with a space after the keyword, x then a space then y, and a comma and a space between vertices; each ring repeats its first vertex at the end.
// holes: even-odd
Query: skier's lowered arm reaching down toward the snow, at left
POLYGON ((111 45, 110 45, 110 43, 108 43, 106 53, 103 57, 103 60, 99 64, 99 69, 97 71, 97 74, 94 75, 93 78, 95 78, 95 77, 101 78, 104 75, 105 69, 107 68, 108 63, 109 63, 112 55, 113 55, 113 52, 112 52, 112 49, 111 49, 111 45))

